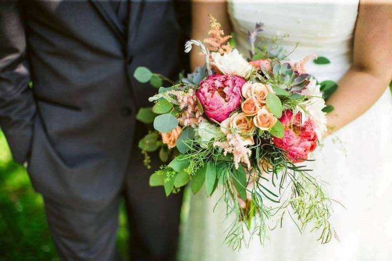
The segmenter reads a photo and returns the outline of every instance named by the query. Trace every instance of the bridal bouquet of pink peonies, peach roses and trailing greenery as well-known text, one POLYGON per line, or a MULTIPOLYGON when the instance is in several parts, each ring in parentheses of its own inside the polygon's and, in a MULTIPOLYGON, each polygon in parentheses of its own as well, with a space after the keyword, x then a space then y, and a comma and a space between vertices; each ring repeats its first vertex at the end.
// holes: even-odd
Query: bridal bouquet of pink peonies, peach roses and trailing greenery
MULTIPOLYGON (((138 119, 153 123, 139 146, 146 155, 159 149, 167 165, 150 177, 151 186, 163 186, 166 195, 190 183, 194 193, 204 185, 207 196, 220 193, 227 217, 226 243, 239 249, 248 235, 267 236, 269 220, 281 226, 289 215, 303 232, 309 225, 326 243, 335 235, 329 222, 331 202, 306 165, 326 131, 325 99, 336 84, 321 84, 304 65, 327 63, 308 56, 292 63, 272 40, 270 48, 256 43, 263 24, 249 32, 250 60, 228 43, 221 25, 210 17, 204 44, 190 40, 185 52, 200 47, 203 68, 171 87, 160 87, 149 98, 138 119), (286 191, 287 190, 287 191, 286 191), (285 192, 286 191, 286 192, 285 192)), ((134 76, 155 86, 158 74, 140 67, 134 76)))

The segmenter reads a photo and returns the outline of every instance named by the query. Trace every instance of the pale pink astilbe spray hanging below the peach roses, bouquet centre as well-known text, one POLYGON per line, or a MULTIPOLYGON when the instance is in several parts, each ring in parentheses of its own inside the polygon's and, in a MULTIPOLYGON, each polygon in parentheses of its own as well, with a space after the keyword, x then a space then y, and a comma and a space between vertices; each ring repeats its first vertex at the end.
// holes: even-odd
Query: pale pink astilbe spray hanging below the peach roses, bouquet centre
POLYGON ((214 146, 221 147, 223 149, 223 155, 232 153, 234 156, 234 166, 238 169, 241 162, 245 163, 247 168, 250 168, 249 157, 252 151, 244 144, 244 139, 238 133, 230 133, 226 136, 227 141, 225 142, 214 142, 214 146))

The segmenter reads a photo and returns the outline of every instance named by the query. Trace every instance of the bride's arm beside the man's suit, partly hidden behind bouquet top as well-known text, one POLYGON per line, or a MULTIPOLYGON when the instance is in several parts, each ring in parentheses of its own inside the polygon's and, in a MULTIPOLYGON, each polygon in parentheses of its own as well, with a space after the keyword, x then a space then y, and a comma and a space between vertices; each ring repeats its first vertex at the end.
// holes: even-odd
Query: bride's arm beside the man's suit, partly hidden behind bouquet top
MULTIPOLYGON (((221 23, 224 33, 230 33, 230 23, 226 12, 226 0, 193 0, 192 1, 192 34, 191 38, 203 41, 207 38, 210 28, 208 15, 215 17, 221 23)), ((191 51, 191 69, 204 64, 204 57, 198 55, 200 49, 191 51)))

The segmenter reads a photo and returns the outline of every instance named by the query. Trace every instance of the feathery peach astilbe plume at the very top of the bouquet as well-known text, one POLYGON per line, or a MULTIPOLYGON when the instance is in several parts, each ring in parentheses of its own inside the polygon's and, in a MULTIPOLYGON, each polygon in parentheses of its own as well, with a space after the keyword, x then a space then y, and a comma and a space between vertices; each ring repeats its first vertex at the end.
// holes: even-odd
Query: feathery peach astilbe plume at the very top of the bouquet
POLYGON ((220 54, 229 53, 231 51, 231 46, 227 43, 223 45, 224 42, 231 38, 230 35, 224 35, 221 29, 221 24, 212 16, 210 17, 210 30, 208 31, 209 38, 204 39, 204 43, 208 44, 207 47, 210 51, 216 51, 220 54))

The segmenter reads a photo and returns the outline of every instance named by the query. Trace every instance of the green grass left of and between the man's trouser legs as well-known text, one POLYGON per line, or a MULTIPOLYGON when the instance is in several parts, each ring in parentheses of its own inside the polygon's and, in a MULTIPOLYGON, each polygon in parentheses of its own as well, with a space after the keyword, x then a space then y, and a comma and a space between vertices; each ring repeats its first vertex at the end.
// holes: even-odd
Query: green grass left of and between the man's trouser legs
MULTIPOLYGON (((127 219, 121 207, 118 247, 127 256, 127 219)), ((12 161, 0 131, 0 261, 59 260, 44 213, 42 196, 30 184, 25 167, 12 161)))

